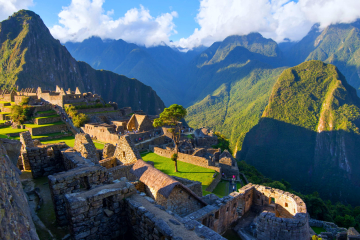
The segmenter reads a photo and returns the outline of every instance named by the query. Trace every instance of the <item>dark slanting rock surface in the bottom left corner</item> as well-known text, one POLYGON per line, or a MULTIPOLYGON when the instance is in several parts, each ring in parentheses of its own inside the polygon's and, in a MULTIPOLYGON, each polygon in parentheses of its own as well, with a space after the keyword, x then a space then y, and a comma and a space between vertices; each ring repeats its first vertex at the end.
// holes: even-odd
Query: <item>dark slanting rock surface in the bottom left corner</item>
POLYGON ((19 170, 0 145, 0 239, 39 239, 23 191, 19 170))

